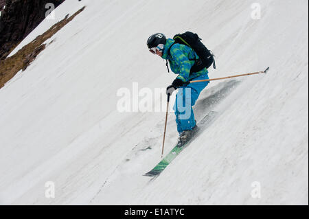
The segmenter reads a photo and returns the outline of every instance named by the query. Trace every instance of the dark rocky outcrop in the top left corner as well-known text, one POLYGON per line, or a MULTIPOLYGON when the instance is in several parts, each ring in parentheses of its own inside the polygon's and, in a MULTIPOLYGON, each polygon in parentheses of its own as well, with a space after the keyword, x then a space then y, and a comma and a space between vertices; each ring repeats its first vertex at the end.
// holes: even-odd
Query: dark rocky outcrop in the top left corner
MULTIPOLYGON (((0 60, 45 19, 47 3, 55 8, 65 0, 6 0, 0 16, 0 60)), ((1 0, 0 0, 1 3, 1 0)))

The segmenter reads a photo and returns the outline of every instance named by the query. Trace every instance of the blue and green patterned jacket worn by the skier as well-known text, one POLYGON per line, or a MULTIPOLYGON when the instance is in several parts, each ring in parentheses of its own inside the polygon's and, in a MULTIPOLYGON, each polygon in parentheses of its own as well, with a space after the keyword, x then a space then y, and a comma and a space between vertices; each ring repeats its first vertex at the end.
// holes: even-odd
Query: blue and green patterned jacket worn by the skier
POLYGON ((194 65, 195 59, 198 59, 198 55, 187 45, 174 43, 175 41, 171 38, 166 40, 162 58, 170 62, 172 71, 179 74, 177 78, 183 82, 188 82, 194 78, 208 74, 207 68, 205 68, 201 71, 193 72, 190 75, 190 69, 194 65))

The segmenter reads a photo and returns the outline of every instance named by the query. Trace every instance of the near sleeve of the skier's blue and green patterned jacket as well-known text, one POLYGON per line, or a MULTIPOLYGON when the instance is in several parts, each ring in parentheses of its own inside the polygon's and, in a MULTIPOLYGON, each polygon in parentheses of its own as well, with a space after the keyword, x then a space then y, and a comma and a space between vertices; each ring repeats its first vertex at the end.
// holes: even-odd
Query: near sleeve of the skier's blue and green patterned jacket
POLYGON ((191 63, 187 58, 185 53, 179 48, 179 45, 174 45, 170 49, 170 55, 179 67, 179 76, 177 78, 181 79, 183 82, 187 82, 190 76, 191 63))

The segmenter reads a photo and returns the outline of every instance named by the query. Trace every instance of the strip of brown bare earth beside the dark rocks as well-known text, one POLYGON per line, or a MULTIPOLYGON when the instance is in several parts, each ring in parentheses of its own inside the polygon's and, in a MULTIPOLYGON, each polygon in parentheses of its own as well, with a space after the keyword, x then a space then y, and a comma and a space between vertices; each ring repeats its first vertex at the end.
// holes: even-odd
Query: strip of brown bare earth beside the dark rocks
POLYGON ((51 38, 58 32, 62 27, 67 25, 74 19, 75 16, 80 14, 84 10, 83 7, 69 17, 69 14, 65 16, 65 19, 59 21, 55 25, 49 28, 44 34, 37 36, 34 41, 25 45, 22 49, 16 52, 13 56, 0 60, 0 89, 13 78, 19 71, 25 71, 30 63, 41 53, 46 47, 43 44, 47 39, 51 38))

